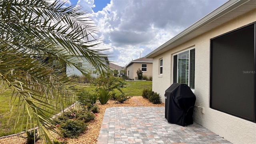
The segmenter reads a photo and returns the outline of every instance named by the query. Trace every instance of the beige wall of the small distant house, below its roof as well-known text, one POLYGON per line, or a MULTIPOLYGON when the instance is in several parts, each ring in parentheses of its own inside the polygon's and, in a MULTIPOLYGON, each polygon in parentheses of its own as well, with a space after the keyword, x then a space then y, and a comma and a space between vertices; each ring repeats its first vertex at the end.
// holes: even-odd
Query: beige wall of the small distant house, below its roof
POLYGON ((152 77, 152 67, 153 64, 152 63, 140 63, 140 62, 134 62, 133 64, 131 64, 130 66, 127 67, 126 72, 127 72, 127 77, 130 79, 135 79, 135 77, 138 77, 137 75, 137 70, 140 69, 141 70, 141 65, 142 64, 147 64, 147 71, 143 72, 142 75, 143 76, 147 76, 152 77), (128 76, 128 70, 129 70, 129 76, 128 76))

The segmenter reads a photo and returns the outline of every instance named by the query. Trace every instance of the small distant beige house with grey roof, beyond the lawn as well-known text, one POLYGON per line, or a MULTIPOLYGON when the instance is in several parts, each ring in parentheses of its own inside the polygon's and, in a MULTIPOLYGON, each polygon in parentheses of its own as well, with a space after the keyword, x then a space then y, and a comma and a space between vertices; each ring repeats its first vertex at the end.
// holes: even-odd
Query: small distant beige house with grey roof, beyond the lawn
POLYGON ((152 77, 152 58, 139 58, 136 60, 132 60, 127 66, 126 66, 126 76, 128 79, 135 79, 135 77, 138 77, 137 70, 142 70, 142 75, 152 77))

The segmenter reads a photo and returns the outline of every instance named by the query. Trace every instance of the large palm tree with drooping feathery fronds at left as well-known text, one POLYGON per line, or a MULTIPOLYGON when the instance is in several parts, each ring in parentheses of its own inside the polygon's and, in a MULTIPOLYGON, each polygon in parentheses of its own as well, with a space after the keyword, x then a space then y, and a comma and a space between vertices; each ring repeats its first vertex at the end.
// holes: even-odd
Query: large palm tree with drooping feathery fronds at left
POLYGON ((92 49, 96 28, 85 14, 62 1, 0 0, 0 88, 12 89, 12 102, 18 101, 16 124, 25 121, 26 130, 38 126, 46 143, 52 143, 48 131, 55 127, 50 115, 75 96, 63 67, 88 76, 77 63, 82 54, 98 72, 105 68, 100 50, 92 49))

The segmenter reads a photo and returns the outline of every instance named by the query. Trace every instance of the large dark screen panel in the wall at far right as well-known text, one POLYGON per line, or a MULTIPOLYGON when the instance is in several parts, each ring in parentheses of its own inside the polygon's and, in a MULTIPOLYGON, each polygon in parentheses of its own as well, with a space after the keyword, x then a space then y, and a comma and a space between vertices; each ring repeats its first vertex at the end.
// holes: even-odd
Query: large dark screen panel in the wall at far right
POLYGON ((211 40, 210 107, 255 122, 255 24, 211 40))

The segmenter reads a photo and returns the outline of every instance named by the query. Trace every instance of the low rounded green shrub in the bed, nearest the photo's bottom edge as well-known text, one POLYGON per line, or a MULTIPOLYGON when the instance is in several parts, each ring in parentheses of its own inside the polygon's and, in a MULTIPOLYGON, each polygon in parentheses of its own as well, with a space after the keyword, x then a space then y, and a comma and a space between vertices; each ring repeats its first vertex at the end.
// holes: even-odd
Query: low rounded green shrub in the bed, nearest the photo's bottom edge
POLYGON ((82 120, 67 120, 60 124, 60 132, 65 138, 77 138, 87 128, 82 120))

